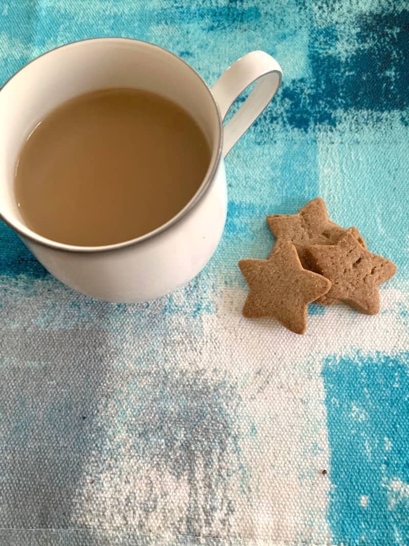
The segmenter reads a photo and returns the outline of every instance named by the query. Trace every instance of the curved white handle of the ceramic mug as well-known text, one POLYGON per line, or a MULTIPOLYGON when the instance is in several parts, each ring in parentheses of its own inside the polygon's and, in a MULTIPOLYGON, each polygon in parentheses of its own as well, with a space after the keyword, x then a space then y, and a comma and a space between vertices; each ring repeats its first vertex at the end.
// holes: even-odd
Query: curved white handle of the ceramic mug
POLYGON ((224 127, 223 157, 254 123, 280 87, 282 71, 279 63, 264 51, 251 51, 240 57, 220 76, 212 87, 222 121, 230 106, 246 87, 257 81, 243 106, 224 127))

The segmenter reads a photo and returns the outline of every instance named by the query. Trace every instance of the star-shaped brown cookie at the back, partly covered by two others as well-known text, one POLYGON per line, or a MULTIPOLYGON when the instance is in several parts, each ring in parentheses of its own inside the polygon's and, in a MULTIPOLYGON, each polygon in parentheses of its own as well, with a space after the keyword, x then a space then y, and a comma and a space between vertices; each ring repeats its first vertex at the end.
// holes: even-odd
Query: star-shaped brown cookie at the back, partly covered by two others
MULTIPOLYGON (((309 201, 297 214, 267 216, 267 224, 276 240, 291 241, 294 244, 300 262, 305 269, 310 269, 308 259, 305 256, 306 247, 310 245, 335 245, 346 231, 328 219, 327 207, 321 197, 309 201)), ((356 236, 360 243, 365 246, 358 230, 356 230, 356 236)))

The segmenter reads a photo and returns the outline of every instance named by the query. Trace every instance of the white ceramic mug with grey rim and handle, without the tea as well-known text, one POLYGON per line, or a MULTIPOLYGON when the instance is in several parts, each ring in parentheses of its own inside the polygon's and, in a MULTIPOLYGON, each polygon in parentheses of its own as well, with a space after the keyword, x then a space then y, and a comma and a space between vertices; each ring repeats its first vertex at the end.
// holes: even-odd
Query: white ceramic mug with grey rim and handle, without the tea
POLYGON ((0 91, 0 215, 38 260, 71 288, 117 302, 172 292, 197 275, 215 251, 227 212, 223 158, 266 108, 280 82, 278 62, 263 51, 244 55, 210 90, 181 58, 143 41, 97 38, 52 50, 27 64, 0 91), (231 104, 255 80, 254 90, 223 128, 231 104), (207 174, 184 209, 137 239, 99 247, 46 239, 29 229, 19 214, 14 197, 17 156, 47 112, 81 93, 106 87, 142 88, 181 104, 209 141, 207 174))

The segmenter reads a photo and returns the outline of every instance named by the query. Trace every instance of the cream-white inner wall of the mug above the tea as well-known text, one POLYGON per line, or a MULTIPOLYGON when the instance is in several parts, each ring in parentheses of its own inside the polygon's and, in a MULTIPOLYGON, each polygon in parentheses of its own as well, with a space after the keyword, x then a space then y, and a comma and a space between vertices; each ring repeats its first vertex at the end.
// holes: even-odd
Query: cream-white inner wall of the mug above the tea
POLYGON ((0 216, 29 239, 64 250, 109 250, 166 229, 200 199, 221 155, 221 119, 208 86, 181 58, 139 40, 84 40, 38 57, 0 90, 0 120, 0 216), (137 239, 104 247, 75 247, 51 241, 29 229, 20 216, 14 195, 20 149, 38 123, 59 104, 106 87, 153 91, 183 106, 202 128, 212 150, 206 176, 194 197, 175 217, 137 239))

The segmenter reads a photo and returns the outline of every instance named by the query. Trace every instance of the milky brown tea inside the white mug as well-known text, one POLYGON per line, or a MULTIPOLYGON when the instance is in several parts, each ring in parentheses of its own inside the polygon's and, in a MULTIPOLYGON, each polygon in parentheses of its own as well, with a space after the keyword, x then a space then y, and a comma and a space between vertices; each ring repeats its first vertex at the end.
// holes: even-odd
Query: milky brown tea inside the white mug
POLYGON ((201 128, 159 94, 112 88, 51 111, 22 146, 15 198, 28 228, 70 245, 134 239, 196 193, 210 162, 201 128))

